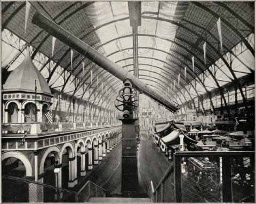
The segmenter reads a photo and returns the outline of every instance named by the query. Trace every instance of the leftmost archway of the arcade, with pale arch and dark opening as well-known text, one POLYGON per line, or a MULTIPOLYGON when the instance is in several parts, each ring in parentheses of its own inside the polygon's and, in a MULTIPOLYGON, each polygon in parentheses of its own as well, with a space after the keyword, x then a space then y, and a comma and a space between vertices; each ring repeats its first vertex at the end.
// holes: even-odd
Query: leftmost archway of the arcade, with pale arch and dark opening
POLYGON ((32 176, 32 168, 25 155, 19 152, 2 154, 2 201, 28 202, 28 183, 10 179, 5 176, 25 178, 32 176))

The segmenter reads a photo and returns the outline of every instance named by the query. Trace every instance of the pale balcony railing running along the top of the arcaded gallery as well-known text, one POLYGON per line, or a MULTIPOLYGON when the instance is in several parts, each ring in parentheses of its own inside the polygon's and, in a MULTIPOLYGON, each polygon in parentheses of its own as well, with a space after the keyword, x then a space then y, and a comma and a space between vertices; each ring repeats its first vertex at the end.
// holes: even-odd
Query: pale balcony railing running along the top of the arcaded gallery
POLYGON ((66 130, 87 129, 94 127, 111 127, 120 124, 120 121, 116 121, 113 123, 4 123, 2 124, 2 134, 38 134, 42 132, 58 132, 66 130))

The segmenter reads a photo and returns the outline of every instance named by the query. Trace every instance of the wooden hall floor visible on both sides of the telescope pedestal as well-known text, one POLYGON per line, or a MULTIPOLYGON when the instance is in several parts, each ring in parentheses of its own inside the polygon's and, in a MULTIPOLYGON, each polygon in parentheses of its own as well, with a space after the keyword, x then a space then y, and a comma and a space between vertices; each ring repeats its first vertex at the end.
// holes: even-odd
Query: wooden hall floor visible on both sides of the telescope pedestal
MULTIPOLYGON (((121 153, 122 142, 108 153, 99 165, 93 166, 93 170, 87 172, 83 181, 78 183, 78 188, 85 181, 90 180, 105 188, 107 196, 121 197, 121 153)), ((153 138, 148 135, 148 132, 141 131, 138 151, 138 180, 141 198, 148 197, 150 181, 153 181, 156 186, 169 166, 170 162, 156 147, 153 138)))

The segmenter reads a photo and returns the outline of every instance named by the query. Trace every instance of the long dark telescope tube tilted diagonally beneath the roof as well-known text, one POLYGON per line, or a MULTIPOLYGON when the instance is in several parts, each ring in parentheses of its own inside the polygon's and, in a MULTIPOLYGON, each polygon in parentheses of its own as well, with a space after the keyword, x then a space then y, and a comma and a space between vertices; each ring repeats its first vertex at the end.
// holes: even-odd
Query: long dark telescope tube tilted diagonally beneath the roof
POLYGON ((36 12, 32 22, 42 28, 43 30, 49 32, 55 38, 58 38, 63 43, 67 44, 69 47, 76 50, 78 53, 84 55, 86 58, 90 59, 94 63, 98 64, 98 66, 107 70, 110 74, 114 75, 118 79, 124 81, 125 79, 130 79, 132 81, 133 87, 137 89, 139 92, 151 97, 151 99, 157 101, 158 103, 164 105, 164 107, 171 112, 178 111, 178 107, 176 107, 170 101, 167 101, 158 93, 156 93, 153 89, 149 88, 143 81, 130 74, 127 70, 123 69, 118 64, 106 58, 106 56, 102 55, 98 51, 94 50, 91 46, 87 45, 81 39, 75 37, 73 34, 70 34, 67 30, 63 29, 50 19, 44 17, 39 12, 36 12))

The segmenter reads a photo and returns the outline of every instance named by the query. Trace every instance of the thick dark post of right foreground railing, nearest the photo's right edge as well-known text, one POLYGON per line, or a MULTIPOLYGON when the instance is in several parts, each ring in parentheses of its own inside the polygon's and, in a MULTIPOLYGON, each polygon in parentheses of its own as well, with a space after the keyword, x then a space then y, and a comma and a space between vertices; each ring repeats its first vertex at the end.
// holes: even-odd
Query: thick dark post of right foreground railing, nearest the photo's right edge
POLYGON ((231 157, 222 156, 222 197, 223 202, 232 200, 231 157))

